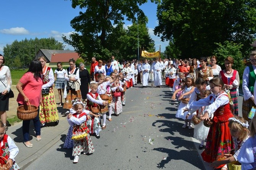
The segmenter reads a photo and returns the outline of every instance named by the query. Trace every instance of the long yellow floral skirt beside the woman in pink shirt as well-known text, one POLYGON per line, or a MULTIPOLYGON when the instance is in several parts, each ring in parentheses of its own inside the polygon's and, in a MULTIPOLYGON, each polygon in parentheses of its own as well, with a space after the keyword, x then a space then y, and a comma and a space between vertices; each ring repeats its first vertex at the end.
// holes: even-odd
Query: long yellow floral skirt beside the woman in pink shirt
POLYGON ((52 88, 50 88, 49 94, 43 94, 43 103, 39 107, 39 119, 42 124, 45 122, 49 123, 59 120, 57 105, 52 88))

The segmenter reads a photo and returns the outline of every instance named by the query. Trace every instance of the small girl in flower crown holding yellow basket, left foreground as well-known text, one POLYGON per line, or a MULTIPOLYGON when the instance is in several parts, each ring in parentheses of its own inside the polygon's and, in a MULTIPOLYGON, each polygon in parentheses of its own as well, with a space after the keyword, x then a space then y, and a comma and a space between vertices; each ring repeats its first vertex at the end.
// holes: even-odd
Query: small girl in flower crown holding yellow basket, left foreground
POLYGON ((77 100, 73 104, 76 111, 73 115, 68 114, 68 123, 74 126, 72 139, 74 139, 74 146, 72 156, 75 156, 73 163, 77 163, 81 152, 84 154, 91 154, 94 152, 94 146, 89 134, 89 129, 86 126, 87 114, 83 112, 84 105, 81 100, 77 100))

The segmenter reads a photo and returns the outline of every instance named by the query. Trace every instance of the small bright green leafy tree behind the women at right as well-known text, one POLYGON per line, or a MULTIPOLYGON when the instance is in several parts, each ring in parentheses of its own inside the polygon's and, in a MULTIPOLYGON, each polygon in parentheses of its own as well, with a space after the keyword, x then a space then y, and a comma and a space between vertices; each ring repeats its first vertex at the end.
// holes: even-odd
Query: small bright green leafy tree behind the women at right
POLYGON ((214 51, 214 54, 218 57, 218 65, 222 69, 225 68, 225 58, 228 56, 232 57, 234 59, 232 68, 238 71, 241 79, 245 70, 244 57, 241 52, 243 45, 229 41, 225 41, 223 44, 216 43, 216 45, 218 45, 218 48, 214 51))

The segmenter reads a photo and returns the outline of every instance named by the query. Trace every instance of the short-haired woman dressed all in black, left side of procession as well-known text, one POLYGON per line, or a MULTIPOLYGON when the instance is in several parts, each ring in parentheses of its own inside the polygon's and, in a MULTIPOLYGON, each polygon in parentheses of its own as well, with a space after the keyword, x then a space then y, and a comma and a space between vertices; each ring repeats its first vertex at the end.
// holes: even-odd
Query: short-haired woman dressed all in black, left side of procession
POLYGON ((82 98, 85 103, 85 99, 87 99, 86 94, 89 91, 88 84, 90 83, 91 78, 90 78, 90 74, 89 74, 88 70, 86 68, 84 68, 83 63, 79 64, 79 78, 81 81, 80 90, 81 90, 82 98))

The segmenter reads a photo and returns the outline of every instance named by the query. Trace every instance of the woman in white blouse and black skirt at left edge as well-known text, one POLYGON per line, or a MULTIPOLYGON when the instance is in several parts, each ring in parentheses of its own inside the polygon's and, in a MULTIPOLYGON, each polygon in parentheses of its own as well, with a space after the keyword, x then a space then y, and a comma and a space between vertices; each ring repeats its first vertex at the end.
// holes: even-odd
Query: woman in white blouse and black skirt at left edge
POLYGON ((11 72, 8 66, 4 66, 5 58, 0 54, 0 118, 6 126, 6 110, 9 110, 9 92, 11 89, 11 72))

